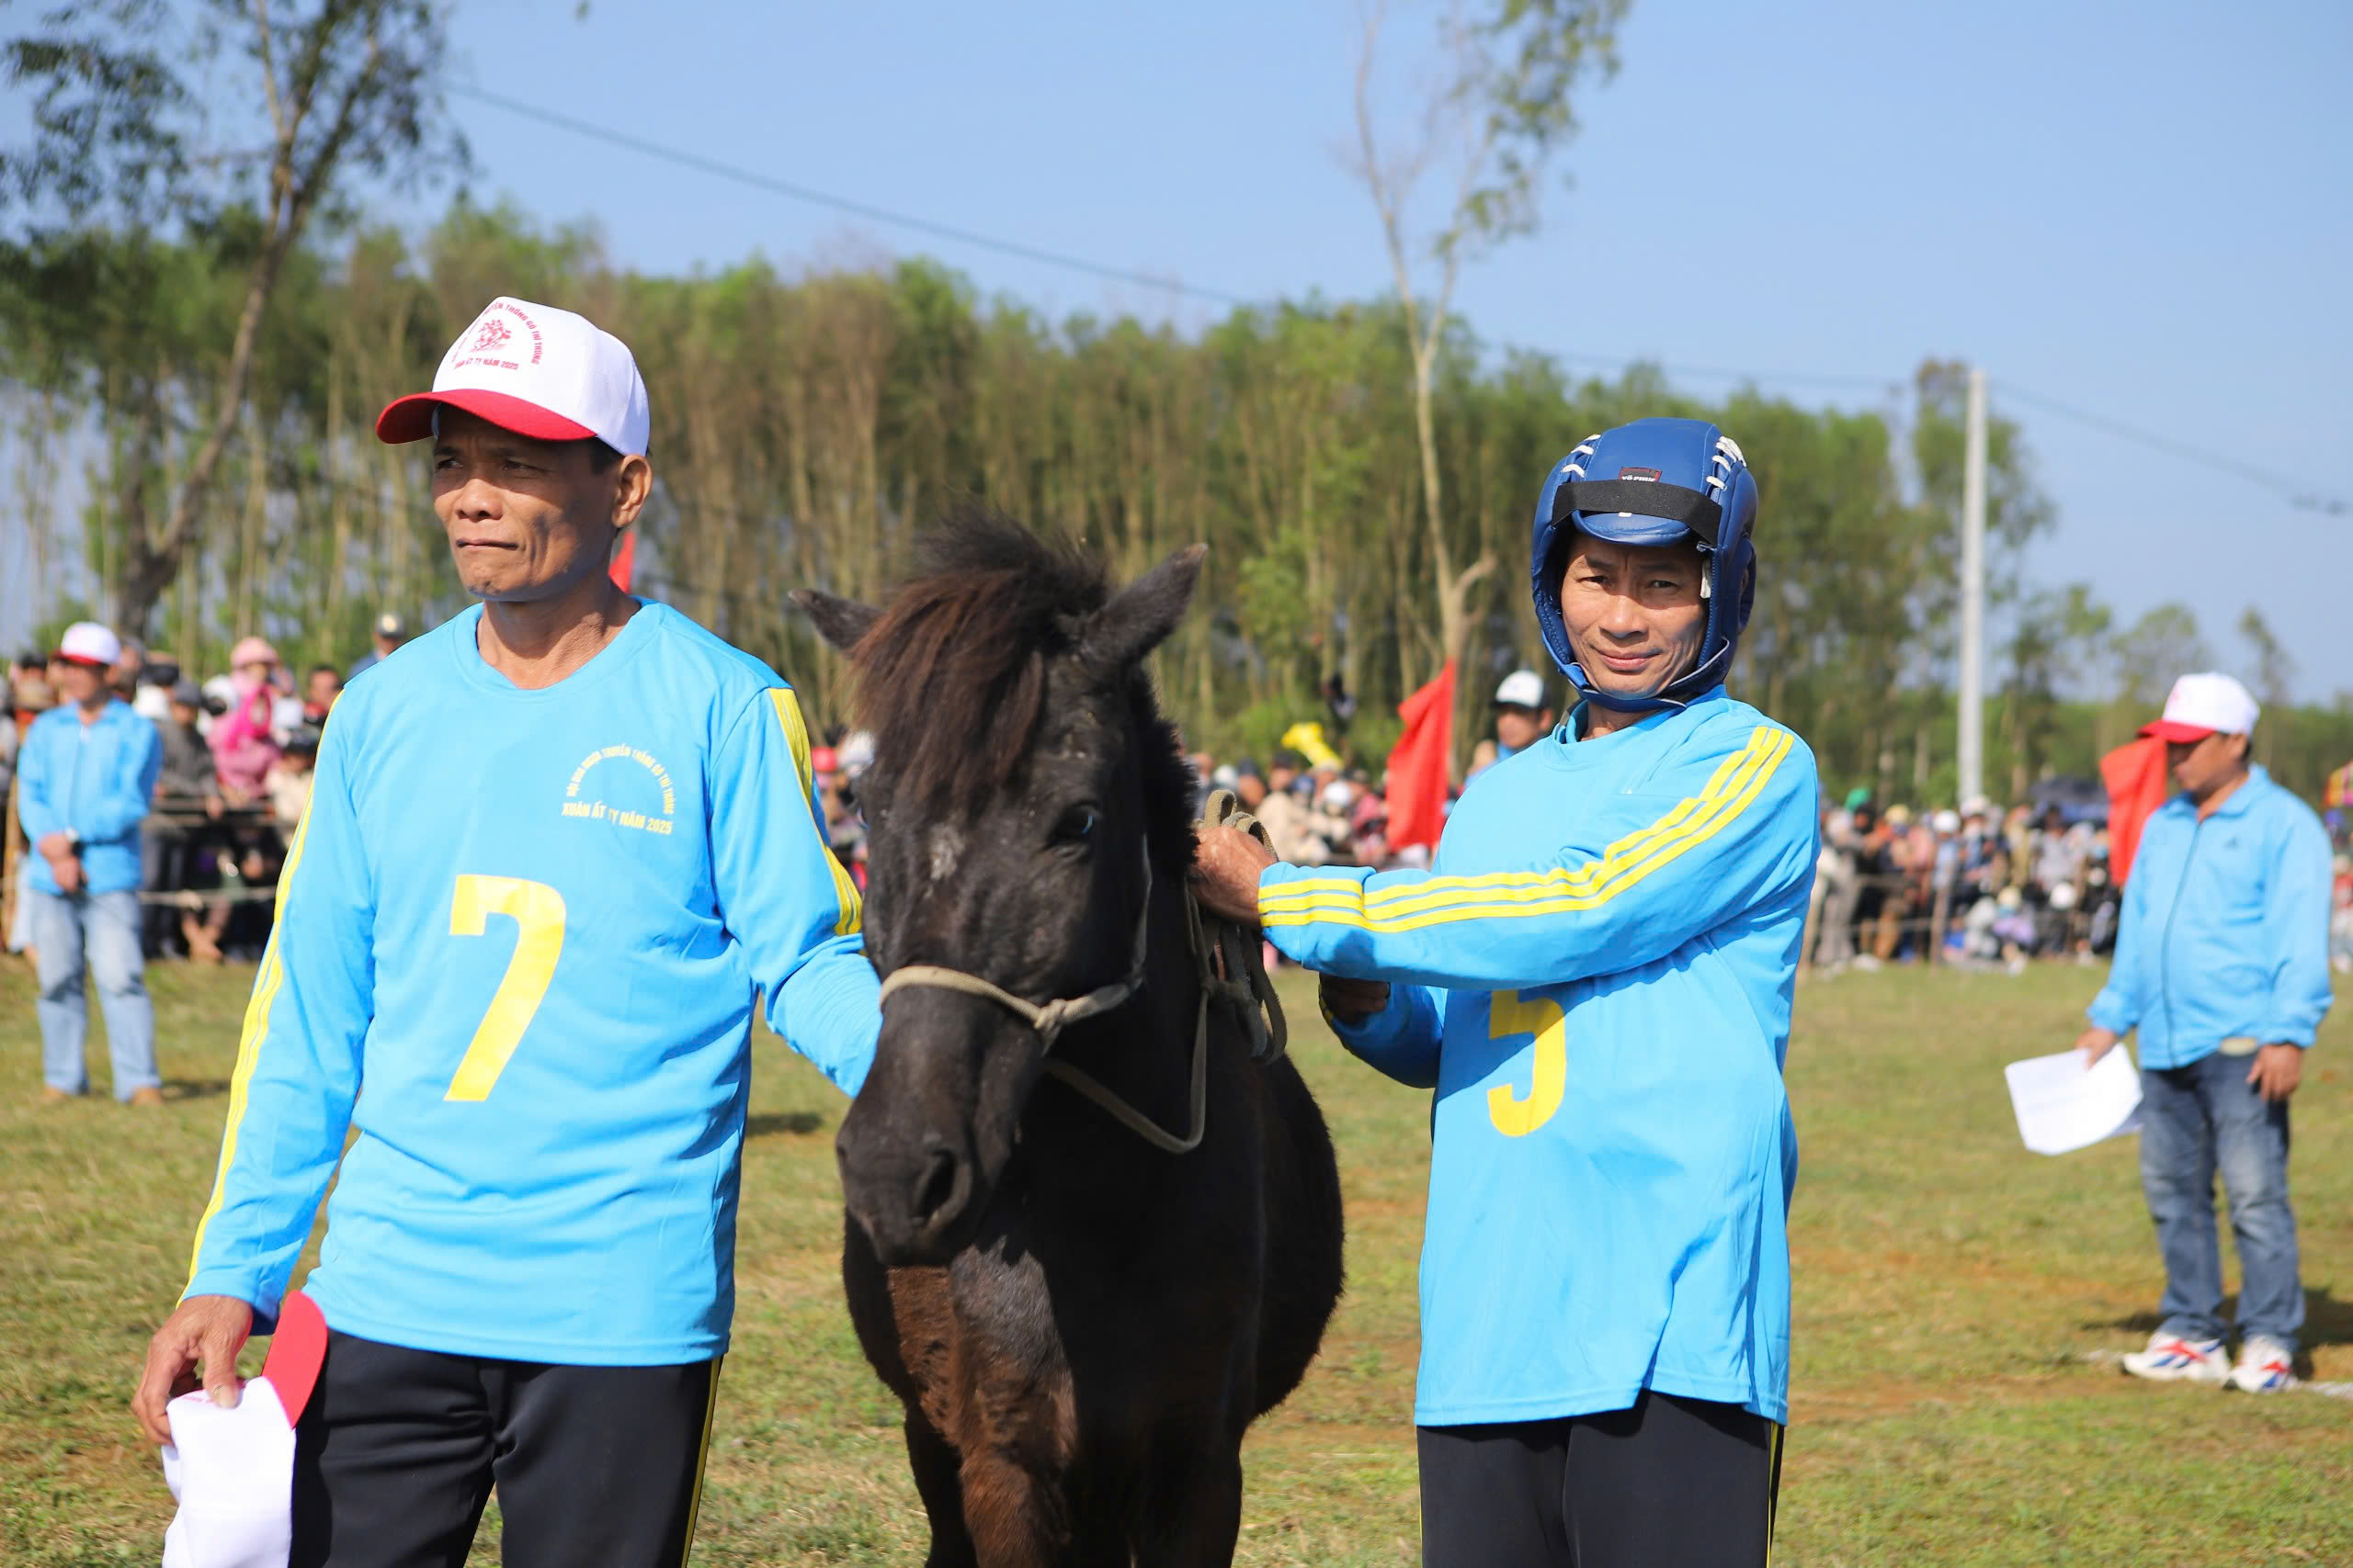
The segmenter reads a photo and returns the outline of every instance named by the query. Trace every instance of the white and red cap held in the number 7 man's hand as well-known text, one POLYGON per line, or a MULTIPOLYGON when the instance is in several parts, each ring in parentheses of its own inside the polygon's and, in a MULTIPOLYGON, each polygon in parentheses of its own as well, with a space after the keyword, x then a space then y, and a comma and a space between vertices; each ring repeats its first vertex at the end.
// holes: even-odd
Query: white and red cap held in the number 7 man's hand
POLYGON ((261 1375, 233 1408, 198 1389, 165 1415, 162 1479, 179 1514, 162 1533, 162 1568, 285 1568, 294 1542, 294 1422, 327 1359, 327 1319, 301 1291, 278 1307, 261 1375))

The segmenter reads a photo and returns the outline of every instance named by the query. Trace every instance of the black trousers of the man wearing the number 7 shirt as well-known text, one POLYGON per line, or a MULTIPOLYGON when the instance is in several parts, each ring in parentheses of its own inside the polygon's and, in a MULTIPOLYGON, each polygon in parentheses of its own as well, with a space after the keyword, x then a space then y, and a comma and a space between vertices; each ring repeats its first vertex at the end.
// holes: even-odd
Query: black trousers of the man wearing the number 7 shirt
POLYGON ((461 1568, 499 1488, 508 1568, 678 1568, 720 1363, 541 1366, 327 1335, 294 1427, 289 1568, 461 1568))

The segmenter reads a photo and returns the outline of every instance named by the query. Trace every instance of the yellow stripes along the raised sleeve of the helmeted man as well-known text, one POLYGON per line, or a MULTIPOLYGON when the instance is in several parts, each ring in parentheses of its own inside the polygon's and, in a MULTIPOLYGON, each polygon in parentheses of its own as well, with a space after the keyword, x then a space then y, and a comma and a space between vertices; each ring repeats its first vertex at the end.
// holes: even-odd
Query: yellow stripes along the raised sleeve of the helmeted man
POLYGON ((1301 877, 1261 896, 1261 919, 1268 926, 1332 922, 1362 931, 1417 931, 1457 919, 1591 910, 1722 832, 1765 792, 1793 743, 1788 731, 1760 724, 1699 795, 1577 867, 1426 877, 1369 896, 1362 882, 1301 877))

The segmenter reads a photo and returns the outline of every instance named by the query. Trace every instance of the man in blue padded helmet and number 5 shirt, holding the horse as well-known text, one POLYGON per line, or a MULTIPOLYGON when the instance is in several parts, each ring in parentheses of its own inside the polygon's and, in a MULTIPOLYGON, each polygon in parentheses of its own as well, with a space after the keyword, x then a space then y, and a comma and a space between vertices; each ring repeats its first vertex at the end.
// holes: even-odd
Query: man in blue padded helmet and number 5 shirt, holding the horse
POLYGON ((1762 1566, 1788 1415, 1781 1086, 1814 757, 1725 693, 1755 482, 1692 418, 1581 442, 1537 501, 1567 724, 1464 790, 1431 870, 1271 865, 1202 900, 1325 973, 1341 1044, 1435 1091, 1421 1251, 1433 1568, 1762 1566))

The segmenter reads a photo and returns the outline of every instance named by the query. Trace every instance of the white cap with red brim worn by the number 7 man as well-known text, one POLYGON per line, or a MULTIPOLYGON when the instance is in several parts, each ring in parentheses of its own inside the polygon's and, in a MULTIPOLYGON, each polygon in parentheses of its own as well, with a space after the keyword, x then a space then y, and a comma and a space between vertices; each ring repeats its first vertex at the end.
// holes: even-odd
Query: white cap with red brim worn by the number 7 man
POLYGON ((624 456, 642 454, 654 437, 628 343, 586 315, 504 294, 456 334, 431 393, 384 404, 376 440, 395 447, 426 440, 433 411, 445 404, 539 442, 593 435, 624 456))

